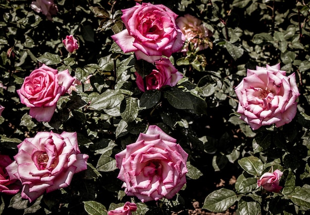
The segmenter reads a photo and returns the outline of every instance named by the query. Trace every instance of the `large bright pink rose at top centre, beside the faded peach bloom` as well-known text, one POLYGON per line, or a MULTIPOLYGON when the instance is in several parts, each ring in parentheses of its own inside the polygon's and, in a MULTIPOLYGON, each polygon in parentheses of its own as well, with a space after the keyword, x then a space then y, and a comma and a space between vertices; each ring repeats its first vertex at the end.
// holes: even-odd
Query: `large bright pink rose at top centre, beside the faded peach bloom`
POLYGON ((136 3, 122 10, 126 29, 112 39, 127 53, 134 51, 137 59, 155 62, 171 56, 182 48, 185 37, 175 24, 177 15, 162 4, 136 3))

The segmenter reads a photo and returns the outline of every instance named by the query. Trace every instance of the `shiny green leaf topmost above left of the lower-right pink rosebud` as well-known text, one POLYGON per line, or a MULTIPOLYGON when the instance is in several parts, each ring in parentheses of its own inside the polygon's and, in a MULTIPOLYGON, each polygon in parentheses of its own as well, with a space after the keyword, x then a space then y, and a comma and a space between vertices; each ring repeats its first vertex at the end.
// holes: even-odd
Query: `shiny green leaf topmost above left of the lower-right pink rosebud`
POLYGON ((260 176, 261 172, 263 171, 263 164, 261 160, 255 156, 242 158, 238 161, 238 164, 246 172, 255 176, 260 176))

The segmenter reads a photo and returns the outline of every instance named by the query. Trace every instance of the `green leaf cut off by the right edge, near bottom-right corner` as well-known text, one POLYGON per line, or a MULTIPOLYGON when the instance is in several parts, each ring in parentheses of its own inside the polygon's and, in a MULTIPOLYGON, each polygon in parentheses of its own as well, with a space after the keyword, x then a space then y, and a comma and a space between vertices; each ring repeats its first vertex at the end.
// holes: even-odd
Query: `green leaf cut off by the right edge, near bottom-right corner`
POLYGON ((293 193, 288 197, 298 206, 310 209, 310 189, 304 187, 295 187, 293 193))

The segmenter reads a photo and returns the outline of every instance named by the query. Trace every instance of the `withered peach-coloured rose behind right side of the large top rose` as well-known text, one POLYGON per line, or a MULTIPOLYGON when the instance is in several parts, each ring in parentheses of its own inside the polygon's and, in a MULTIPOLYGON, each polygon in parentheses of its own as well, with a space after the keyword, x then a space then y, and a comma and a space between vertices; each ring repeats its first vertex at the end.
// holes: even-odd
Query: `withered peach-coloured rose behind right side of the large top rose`
POLYGON ((202 41, 212 36, 212 33, 204 26, 202 20, 190 14, 185 14, 183 17, 176 19, 176 24, 185 35, 187 41, 181 51, 188 51, 188 43, 193 43, 198 50, 209 47, 208 43, 202 41))

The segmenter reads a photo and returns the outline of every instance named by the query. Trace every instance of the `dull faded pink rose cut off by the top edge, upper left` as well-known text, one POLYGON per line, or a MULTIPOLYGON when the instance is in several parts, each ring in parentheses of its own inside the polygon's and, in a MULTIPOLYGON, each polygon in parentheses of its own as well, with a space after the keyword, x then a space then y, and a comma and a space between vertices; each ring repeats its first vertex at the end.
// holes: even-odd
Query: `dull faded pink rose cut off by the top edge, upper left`
POLYGON ((56 15, 58 12, 57 5, 53 0, 32 1, 30 7, 37 13, 42 12, 49 20, 52 20, 52 15, 56 15))

